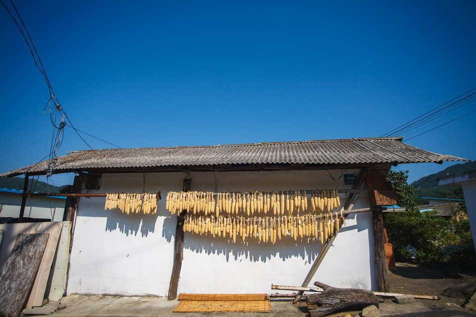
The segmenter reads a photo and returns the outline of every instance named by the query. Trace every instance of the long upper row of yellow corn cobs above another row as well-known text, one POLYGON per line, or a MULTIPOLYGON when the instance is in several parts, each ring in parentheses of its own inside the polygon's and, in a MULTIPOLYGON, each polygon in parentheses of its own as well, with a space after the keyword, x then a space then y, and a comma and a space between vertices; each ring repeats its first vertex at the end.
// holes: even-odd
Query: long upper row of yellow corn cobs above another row
POLYGON ((293 215, 294 212, 331 212, 340 206, 337 189, 316 189, 309 194, 306 190, 265 191, 265 192, 169 192, 165 209, 171 214, 186 210, 193 214, 239 214, 273 213, 273 215, 293 215), (309 202, 310 200, 310 202, 309 202), (309 210, 309 207, 311 209, 309 210))

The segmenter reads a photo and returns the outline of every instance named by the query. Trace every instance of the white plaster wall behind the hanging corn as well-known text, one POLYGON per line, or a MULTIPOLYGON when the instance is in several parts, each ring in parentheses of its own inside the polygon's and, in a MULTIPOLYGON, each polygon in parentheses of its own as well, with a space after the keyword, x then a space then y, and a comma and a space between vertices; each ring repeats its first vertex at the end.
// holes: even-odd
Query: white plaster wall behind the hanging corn
MULTIPOLYGON (((346 173, 358 174, 358 170, 346 173)), ((341 171, 331 171, 337 179, 341 171)), ((343 188, 326 171, 192 173, 192 190, 343 188)), ((146 192, 181 190, 184 173, 147 174, 146 192)), ((105 174, 98 192, 141 192, 142 174, 105 174)), ((349 188, 351 186, 348 186, 349 188)), ((340 195, 342 204, 346 196, 340 195)), ((104 211, 104 198, 81 198, 74 232, 68 294, 165 296, 173 262, 176 216, 159 201, 155 216, 104 211)), ((368 206, 360 195, 354 208, 368 206)), ((350 215, 313 280, 338 287, 375 289, 370 213, 350 215)), ((275 245, 251 239, 230 243, 185 232, 179 292, 271 293, 271 284, 300 285, 322 249, 317 241, 283 238, 275 245)), ((280 291, 281 292, 281 291, 280 291)))

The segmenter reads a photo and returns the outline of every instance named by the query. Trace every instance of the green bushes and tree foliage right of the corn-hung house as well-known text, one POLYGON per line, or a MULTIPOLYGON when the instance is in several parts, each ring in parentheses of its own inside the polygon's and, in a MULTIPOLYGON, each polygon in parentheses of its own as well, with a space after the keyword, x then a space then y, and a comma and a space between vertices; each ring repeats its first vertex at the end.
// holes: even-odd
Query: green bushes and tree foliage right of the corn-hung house
POLYGON ((408 244, 416 248, 415 261, 420 263, 469 265, 476 260, 464 204, 453 207, 450 219, 436 216, 433 211, 420 213, 415 208, 414 189, 407 184, 408 171, 390 171, 388 179, 398 204, 407 208, 406 212, 391 213, 385 218, 397 260, 412 260, 405 249, 408 244))

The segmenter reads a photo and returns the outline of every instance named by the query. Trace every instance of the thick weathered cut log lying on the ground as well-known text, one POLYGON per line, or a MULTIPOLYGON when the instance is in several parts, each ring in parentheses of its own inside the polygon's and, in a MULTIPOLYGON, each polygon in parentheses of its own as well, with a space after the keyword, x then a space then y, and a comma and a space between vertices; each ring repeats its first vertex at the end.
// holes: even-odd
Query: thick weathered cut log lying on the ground
POLYGON ((308 305, 318 305, 310 310, 311 317, 322 317, 335 311, 348 308, 378 307, 378 297, 370 290, 356 288, 337 288, 321 282, 314 285, 324 289, 322 293, 308 296, 308 305))

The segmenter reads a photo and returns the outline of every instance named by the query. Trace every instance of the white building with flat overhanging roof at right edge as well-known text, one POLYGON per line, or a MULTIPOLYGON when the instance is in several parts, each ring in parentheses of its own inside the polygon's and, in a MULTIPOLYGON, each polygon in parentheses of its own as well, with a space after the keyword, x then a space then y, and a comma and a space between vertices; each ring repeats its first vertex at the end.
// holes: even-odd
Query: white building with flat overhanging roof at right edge
POLYGON ((469 226, 473 232, 472 241, 476 248, 476 170, 448 175, 436 179, 438 185, 455 185, 463 188, 466 211, 469 218, 469 226))

